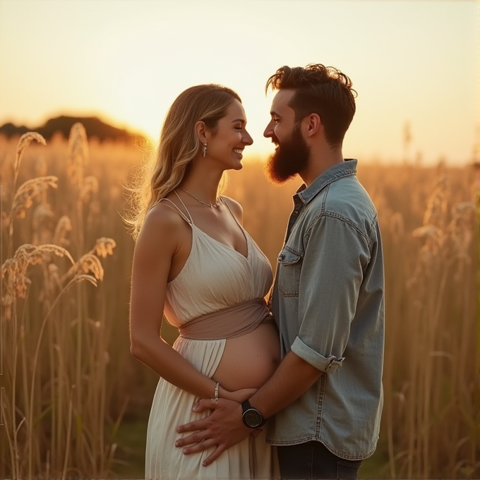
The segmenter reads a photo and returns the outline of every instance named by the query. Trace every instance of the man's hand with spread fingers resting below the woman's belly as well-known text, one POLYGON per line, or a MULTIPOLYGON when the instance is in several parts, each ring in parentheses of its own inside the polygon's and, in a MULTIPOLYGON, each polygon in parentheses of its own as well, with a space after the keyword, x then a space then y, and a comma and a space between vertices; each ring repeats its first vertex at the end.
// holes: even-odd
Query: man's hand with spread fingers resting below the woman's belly
POLYGON ((258 436, 261 431, 260 428, 252 430, 244 425, 244 422, 241 420, 241 404, 232 400, 220 398, 217 403, 214 400, 200 400, 193 407, 193 412, 196 413, 205 412, 205 410, 213 410, 213 412, 205 419, 192 421, 190 424, 181 425, 176 429, 178 433, 195 433, 188 437, 180 438, 175 442, 176 447, 196 444, 184 448, 183 452, 185 455, 202 452, 217 445, 212 455, 203 462, 204 467, 215 462, 227 448, 233 447, 233 445, 241 442, 250 434, 258 436))

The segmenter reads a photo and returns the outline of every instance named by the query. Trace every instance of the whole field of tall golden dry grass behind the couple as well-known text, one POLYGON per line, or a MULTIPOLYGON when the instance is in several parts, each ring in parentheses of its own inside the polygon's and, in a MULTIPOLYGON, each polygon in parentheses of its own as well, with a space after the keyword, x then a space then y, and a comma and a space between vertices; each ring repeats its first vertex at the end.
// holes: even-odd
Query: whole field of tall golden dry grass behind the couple
MULTIPOLYGON (((121 215, 143 151, 88 143, 80 125, 41 143, 0 138, 0 478, 140 478, 157 378, 129 352, 121 215)), ((358 176, 386 273, 385 405, 361 478, 478 478, 477 172, 360 159, 358 176)), ((296 186, 269 184, 260 160, 230 174, 274 268, 296 186)))

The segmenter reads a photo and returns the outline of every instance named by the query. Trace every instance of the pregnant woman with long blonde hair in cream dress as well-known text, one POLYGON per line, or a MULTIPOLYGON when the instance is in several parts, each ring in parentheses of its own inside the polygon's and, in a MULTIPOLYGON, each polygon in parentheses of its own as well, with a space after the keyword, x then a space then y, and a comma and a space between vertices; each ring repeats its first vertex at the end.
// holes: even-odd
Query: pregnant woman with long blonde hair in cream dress
POLYGON ((174 446, 176 427, 200 419, 199 398, 243 402, 280 361, 264 296, 268 259, 242 227, 239 203, 218 196, 228 169, 252 143, 238 95, 198 85, 176 98, 157 155, 136 190, 131 280, 131 353, 160 376, 147 431, 145 479, 270 479, 266 428, 203 467, 174 446), (179 328, 170 347, 162 317, 179 328))

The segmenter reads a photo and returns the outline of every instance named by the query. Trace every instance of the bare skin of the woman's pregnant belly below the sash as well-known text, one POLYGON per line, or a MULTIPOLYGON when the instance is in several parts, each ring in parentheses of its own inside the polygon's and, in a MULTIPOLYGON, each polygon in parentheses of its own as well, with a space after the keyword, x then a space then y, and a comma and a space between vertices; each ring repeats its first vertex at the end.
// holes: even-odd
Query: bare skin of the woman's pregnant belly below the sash
POLYGON ((223 388, 260 388, 280 363, 280 342, 274 323, 261 323, 252 332, 226 341, 213 379, 223 388))

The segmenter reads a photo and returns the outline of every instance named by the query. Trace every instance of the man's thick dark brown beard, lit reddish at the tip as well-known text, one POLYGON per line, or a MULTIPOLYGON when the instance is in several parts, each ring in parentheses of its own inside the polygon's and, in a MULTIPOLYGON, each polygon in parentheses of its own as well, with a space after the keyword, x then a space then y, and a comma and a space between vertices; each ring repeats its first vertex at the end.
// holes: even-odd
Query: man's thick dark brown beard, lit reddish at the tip
POLYGON ((284 184, 306 169, 310 160, 310 147, 301 135, 300 126, 296 126, 290 136, 282 141, 282 145, 277 138, 274 138, 274 142, 277 148, 268 157, 265 172, 275 184, 284 184))

